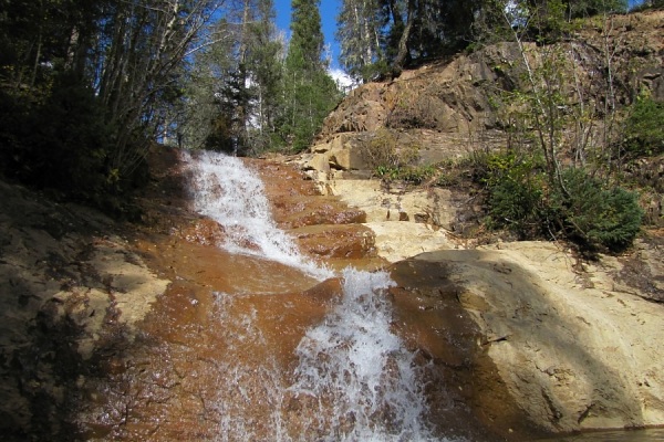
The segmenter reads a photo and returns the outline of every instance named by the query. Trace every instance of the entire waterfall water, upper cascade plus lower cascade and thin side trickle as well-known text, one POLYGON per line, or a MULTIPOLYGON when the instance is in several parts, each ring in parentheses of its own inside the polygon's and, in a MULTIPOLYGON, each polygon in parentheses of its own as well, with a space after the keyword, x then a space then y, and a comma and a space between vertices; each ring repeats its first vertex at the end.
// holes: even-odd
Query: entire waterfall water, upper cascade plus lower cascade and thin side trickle
MULTIPOLYGON (((241 160, 214 152, 186 160, 197 211, 225 229, 221 246, 291 265, 319 281, 332 276, 276 227, 262 182, 241 160)), ((292 365, 266 356, 271 344, 258 325, 260 315, 242 304, 249 295, 216 294, 227 343, 227 357, 217 365, 217 440, 440 440, 425 422, 415 355, 391 330, 388 274, 346 269, 341 277, 341 301, 305 330, 292 365)))

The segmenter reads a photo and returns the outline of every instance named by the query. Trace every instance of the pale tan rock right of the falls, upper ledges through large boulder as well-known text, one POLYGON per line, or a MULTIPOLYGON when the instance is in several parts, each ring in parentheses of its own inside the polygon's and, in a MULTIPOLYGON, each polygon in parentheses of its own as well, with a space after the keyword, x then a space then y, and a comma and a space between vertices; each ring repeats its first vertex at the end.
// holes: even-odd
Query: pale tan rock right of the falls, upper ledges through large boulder
MULTIPOLYGON (((651 231, 629 254, 588 263, 554 243, 477 246, 444 228, 387 219, 385 206, 397 203, 411 214, 430 212, 434 199, 426 192, 391 196, 375 180, 329 186, 366 211, 381 256, 397 262, 416 255, 415 261, 449 267, 438 276, 421 272, 425 280, 414 277, 411 284, 421 287, 429 284, 426 277, 438 277, 440 293, 455 284, 458 303, 479 327, 477 346, 498 372, 492 382, 507 391, 471 394, 468 403, 486 412, 513 401, 515 415, 553 432, 664 423, 664 378, 657 369, 664 364, 657 338, 664 329, 664 305, 656 303, 664 295, 660 232, 651 231)), ((453 211, 449 200, 438 201, 444 202, 439 211, 453 211)), ((448 225, 444 220, 439 225, 448 225)), ((415 345, 432 351, 433 333, 422 333, 415 345)), ((490 372, 474 370, 483 378, 490 372)), ((515 428, 515 420, 501 419, 506 431, 515 428)))

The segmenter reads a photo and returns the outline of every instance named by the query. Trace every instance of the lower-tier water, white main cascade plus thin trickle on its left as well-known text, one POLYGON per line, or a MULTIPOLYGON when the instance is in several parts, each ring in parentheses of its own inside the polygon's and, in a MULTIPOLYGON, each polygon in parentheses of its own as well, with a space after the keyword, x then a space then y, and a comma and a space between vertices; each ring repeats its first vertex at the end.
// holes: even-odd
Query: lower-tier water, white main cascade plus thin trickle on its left
POLYGON ((248 343, 268 346, 256 312, 231 314, 237 297, 217 294, 229 356, 219 364, 217 441, 450 441, 429 431, 422 368, 391 330, 390 275, 342 277, 343 298, 307 332, 292 372, 272 357, 247 361, 248 343))

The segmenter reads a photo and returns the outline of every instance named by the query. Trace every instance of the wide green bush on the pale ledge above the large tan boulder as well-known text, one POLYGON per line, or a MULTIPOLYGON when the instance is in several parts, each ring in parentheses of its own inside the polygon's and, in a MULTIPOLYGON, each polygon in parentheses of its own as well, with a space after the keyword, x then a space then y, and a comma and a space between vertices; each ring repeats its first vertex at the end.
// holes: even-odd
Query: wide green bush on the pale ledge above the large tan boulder
POLYGON ((562 169, 551 182, 540 162, 513 152, 486 157, 479 179, 488 191, 489 228, 522 240, 567 238, 589 251, 632 244, 643 218, 635 193, 580 168, 562 169))

